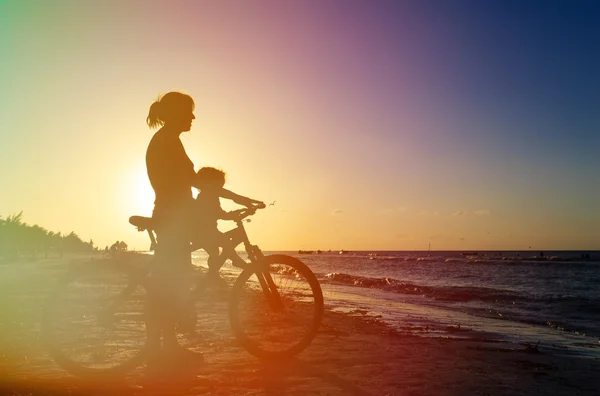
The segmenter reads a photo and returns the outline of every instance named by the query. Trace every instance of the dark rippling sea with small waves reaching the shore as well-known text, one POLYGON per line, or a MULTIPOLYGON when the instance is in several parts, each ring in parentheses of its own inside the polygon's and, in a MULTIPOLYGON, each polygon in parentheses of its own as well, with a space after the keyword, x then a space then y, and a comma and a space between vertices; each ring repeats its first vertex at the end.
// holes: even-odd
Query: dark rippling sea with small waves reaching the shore
MULTIPOLYGON (((600 251, 265 252, 272 253, 311 268, 326 308, 377 317, 401 332, 539 342, 600 357, 600 251)), ((194 257, 206 265, 205 254, 194 257)))

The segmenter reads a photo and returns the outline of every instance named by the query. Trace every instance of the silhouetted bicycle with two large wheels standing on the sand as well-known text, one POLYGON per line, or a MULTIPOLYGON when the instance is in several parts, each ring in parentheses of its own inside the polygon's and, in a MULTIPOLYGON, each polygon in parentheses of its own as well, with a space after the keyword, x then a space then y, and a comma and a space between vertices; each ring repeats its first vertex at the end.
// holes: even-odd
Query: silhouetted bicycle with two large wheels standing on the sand
MULTIPOLYGON (((314 339, 324 312, 323 293, 316 276, 300 260, 283 254, 264 255, 250 243, 243 223, 250 221, 246 218, 257 209, 236 211, 237 227, 225 233, 234 246, 244 244, 248 257, 246 261, 237 252, 228 257, 234 267, 242 270, 231 287, 229 322, 238 342, 252 355, 261 359, 289 358, 314 339)), ((130 223, 138 231, 148 232, 153 249, 156 238, 152 219, 132 216, 130 223)), ((151 265, 152 260, 141 268, 104 262, 63 277, 46 304, 42 322, 42 332, 56 363, 72 374, 93 377, 122 375, 144 362, 148 353, 146 299, 153 292, 148 283, 151 265), (109 284, 108 277, 116 277, 120 283, 109 284), (108 297, 100 296, 105 292, 108 297), (60 314, 68 317, 62 326, 60 314), (100 336, 93 337, 94 331, 100 336), (116 336, 116 341, 111 336, 116 336)), ((206 282, 197 281, 189 293, 190 300, 202 298, 205 288, 206 282)))

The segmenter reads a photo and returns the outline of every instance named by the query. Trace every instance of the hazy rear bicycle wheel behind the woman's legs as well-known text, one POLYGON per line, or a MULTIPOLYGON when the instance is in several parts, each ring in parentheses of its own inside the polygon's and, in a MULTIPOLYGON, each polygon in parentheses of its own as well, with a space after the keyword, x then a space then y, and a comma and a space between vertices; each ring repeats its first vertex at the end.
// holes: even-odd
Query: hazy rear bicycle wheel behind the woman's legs
POLYGON ((81 377, 121 376, 147 352, 144 278, 123 264, 66 274, 50 296, 42 337, 62 368, 81 377))

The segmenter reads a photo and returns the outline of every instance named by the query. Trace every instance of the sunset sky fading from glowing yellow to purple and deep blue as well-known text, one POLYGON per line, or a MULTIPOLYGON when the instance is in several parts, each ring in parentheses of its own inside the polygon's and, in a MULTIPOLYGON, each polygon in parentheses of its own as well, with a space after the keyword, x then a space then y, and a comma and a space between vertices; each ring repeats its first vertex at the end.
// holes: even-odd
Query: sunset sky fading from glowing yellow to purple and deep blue
POLYGON ((276 201, 263 249, 600 249, 599 2, 0 0, 0 22, 0 216, 147 248, 145 118, 178 90, 195 167, 276 201))

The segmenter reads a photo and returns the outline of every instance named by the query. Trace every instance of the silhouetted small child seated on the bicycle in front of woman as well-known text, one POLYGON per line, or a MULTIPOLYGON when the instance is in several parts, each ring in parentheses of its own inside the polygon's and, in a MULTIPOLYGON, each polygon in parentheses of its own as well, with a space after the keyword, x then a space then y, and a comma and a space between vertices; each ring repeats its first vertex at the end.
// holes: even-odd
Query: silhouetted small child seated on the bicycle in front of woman
MULTIPOLYGON (((220 191, 225 185, 225 172, 211 167, 201 168, 197 173, 196 185, 200 192, 194 205, 194 225, 192 246, 204 249, 208 253, 207 277, 223 283, 219 270, 229 257, 235 256, 235 246, 230 236, 223 234, 217 228, 217 220, 235 220, 236 214, 225 212, 219 201, 220 191), (219 255, 219 247, 223 253, 219 255)), ((256 204, 264 205, 261 201, 251 199, 256 204)))

